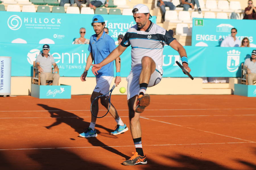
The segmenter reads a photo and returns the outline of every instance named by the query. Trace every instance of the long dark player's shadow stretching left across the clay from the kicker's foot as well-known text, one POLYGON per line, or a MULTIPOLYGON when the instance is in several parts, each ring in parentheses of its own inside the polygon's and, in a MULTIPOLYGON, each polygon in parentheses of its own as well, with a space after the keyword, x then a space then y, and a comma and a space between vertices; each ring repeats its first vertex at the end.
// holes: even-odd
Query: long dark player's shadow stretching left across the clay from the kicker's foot
MULTIPOLYGON (((37 104, 38 106, 43 107, 44 109, 48 110, 50 113, 50 116, 52 118, 56 118, 55 122, 53 122, 51 125, 49 126, 45 126, 47 129, 51 129, 53 126, 57 126, 61 123, 65 123, 67 125, 69 125, 71 128, 73 128, 78 134, 82 133, 83 131, 85 131, 87 128, 89 127, 90 123, 89 122, 85 122, 83 118, 80 118, 79 116, 77 116, 74 113, 71 112, 67 112, 67 111, 63 111, 59 108, 55 108, 55 107, 49 107, 48 105, 44 105, 44 104, 37 104)), ((108 132, 113 131, 113 129, 109 129, 106 128, 104 126, 98 125, 96 124, 97 128, 102 128, 105 129, 108 132)), ((101 135, 101 132, 99 130, 97 130, 98 135, 101 135)), ((105 137, 109 137, 107 135, 105 135, 105 133, 102 133, 102 136, 105 137)), ((113 136, 111 135, 111 138, 113 138, 113 136)), ((116 138, 116 137, 115 137, 116 138)), ((110 152, 113 152, 117 155, 120 155, 122 157, 124 157, 125 159, 129 159, 129 156, 119 152, 118 150, 104 144, 103 142, 101 142, 100 140, 97 139, 97 137, 90 137, 90 138, 86 138, 88 140, 89 143, 91 143, 93 146, 100 146, 110 152)))

